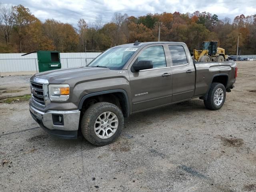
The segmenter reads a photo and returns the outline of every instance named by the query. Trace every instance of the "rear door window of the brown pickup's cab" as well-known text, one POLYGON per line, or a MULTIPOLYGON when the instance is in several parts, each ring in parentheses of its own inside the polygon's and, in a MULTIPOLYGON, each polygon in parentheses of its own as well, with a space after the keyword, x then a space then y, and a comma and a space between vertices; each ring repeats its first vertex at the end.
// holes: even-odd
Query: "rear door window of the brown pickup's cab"
POLYGON ((169 45, 172 56, 172 65, 184 65, 188 63, 186 52, 181 45, 169 45))

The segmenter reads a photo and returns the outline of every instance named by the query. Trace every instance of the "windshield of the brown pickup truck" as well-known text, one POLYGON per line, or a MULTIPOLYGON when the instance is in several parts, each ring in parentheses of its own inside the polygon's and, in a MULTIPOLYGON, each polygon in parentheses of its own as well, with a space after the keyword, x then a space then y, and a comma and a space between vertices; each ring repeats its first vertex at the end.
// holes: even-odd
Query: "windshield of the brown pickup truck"
POLYGON ((138 48, 110 48, 104 53, 100 54, 88 66, 90 67, 105 67, 111 70, 121 70, 130 57, 136 52, 138 48))

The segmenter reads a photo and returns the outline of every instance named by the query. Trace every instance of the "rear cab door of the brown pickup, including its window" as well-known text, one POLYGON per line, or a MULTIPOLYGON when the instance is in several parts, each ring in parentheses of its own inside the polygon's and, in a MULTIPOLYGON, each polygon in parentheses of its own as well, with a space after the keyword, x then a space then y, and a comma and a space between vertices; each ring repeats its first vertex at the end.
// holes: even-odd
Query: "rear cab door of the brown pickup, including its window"
POLYGON ((195 69, 189 62, 184 46, 168 45, 172 60, 172 102, 192 98, 195 89, 195 69))

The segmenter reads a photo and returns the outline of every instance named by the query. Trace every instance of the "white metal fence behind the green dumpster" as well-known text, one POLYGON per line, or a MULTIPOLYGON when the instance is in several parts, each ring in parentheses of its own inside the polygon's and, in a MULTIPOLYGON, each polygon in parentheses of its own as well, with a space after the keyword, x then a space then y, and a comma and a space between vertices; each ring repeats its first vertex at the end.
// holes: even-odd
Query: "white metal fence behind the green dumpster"
MULTIPOLYGON (((99 54, 101 53, 60 53, 61 68, 86 66, 99 54)), ((38 72, 37 54, 21 55, 22 53, 0 54, 0 72, 38 72)))

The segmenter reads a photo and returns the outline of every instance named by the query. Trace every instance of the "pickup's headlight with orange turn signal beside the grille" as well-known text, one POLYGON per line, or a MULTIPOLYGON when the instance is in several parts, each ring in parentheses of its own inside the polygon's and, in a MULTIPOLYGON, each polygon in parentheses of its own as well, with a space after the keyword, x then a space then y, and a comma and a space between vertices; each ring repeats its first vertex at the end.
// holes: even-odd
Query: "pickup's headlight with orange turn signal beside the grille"
POLYGON ((69 98, 69 85, 59 84, 48 85, 49 98, 51 101, 66 101, 69 98))

